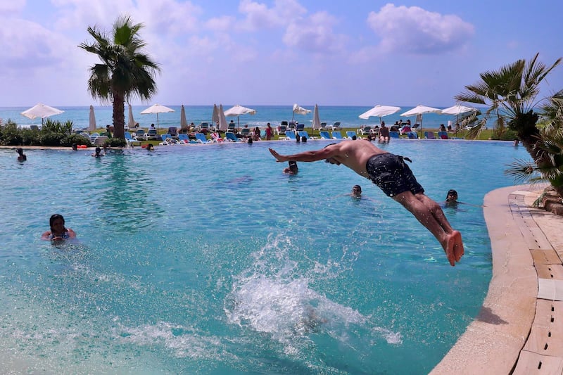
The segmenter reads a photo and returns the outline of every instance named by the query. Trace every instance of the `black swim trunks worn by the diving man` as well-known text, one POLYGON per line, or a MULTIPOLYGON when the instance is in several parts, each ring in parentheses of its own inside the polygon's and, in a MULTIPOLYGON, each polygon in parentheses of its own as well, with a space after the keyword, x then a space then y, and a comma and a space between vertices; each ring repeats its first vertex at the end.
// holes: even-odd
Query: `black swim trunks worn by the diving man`
POLYGON ((365 169, 369 179, 387 196, 396 196, 405 191, 411 191, 413 194, 424 193, 424 189, 403 159, 403 156, 392 153, 380 153, 367 160, 365 169))

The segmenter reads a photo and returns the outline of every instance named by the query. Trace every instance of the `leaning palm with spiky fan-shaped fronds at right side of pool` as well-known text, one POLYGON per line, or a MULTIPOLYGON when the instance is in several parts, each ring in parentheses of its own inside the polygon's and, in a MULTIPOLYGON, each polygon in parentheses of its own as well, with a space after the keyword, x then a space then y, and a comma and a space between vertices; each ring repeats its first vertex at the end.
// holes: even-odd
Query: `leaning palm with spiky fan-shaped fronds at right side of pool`
POLYGON ((519 60, 499 70, 483 72, 479 82, 466 86, 466 91, 455 96, 457 101, 488 106, 470 135, 476 136, 487 121, 494 118, 495 132, 502 134, 506 127, 517 132, 533 160, 537 156, 534 145, 539 134, 536 127, 538 114, 533 108, 538 106, 536 97, 540 82, 562 60, 559 58, 548 67, 538 61, 538 55, 536 53, 528 63, 519 60))

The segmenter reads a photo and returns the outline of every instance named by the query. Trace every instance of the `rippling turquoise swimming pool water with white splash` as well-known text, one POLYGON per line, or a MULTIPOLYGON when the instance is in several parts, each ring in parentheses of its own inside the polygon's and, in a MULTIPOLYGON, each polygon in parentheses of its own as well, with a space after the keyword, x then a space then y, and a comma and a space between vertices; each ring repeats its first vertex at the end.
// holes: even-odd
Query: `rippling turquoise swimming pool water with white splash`
MULTIPOLYGON (((346 167, 281 173, 267 151, 324 146, 0 150, 0 362, 134 374, 425 374, 479 312, 491 278, 482 209, 446 208, 450 267, 398 203, 346 167), (346 196, 362 185, 362 200, 346 196), (77 243, 39 236, 64 215, 77 243)), ((508 142, 395 141, 426 193, 481 205, 513 181, 508 142)), ((8 367, 6 367, 8 366, 8 367)))

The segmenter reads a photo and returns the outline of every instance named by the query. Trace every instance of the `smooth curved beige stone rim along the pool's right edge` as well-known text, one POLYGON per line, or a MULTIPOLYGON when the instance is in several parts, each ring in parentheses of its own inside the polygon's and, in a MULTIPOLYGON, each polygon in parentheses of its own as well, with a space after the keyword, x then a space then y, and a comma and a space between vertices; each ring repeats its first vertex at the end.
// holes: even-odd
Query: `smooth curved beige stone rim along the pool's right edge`
MULTIPOLYGON (((545 235, 548 245, 550 238, 563 231, 563 217, 547 217, 545 211, 529 207, 544 187, 508 186, 486 194, 483 213, 491 239, 493 277, 479 316, 431 374, 518 372, 519 356, 536 318, 538 301, 538 272, 531 254, 538 246, 531 245, 531 227, 537 227, 539 236, 545 235), (541 220, 539 215, 543 216, 541 220), (552 225, 546 225, 546 220, 552 225)), ((557 246, 554 249, 561 254, 561 243, 557 246)))

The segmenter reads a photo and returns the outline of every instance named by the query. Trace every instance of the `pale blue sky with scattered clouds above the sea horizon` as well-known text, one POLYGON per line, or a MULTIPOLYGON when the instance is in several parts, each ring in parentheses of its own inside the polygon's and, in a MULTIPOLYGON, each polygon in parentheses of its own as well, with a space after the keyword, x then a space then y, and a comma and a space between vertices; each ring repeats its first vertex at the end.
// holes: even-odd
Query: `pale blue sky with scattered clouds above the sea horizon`
MULTIPOLYGON (((118 15, 144 23, 165 105, 451 106, 479 73, 563 56, 559 1, 0 2, 0 107, 99 104, 77 47, 118 15)), ((542 96, 563 89, 563 65, 542 96)), ((132 104, 141 104, 133 99, 132 104)))

